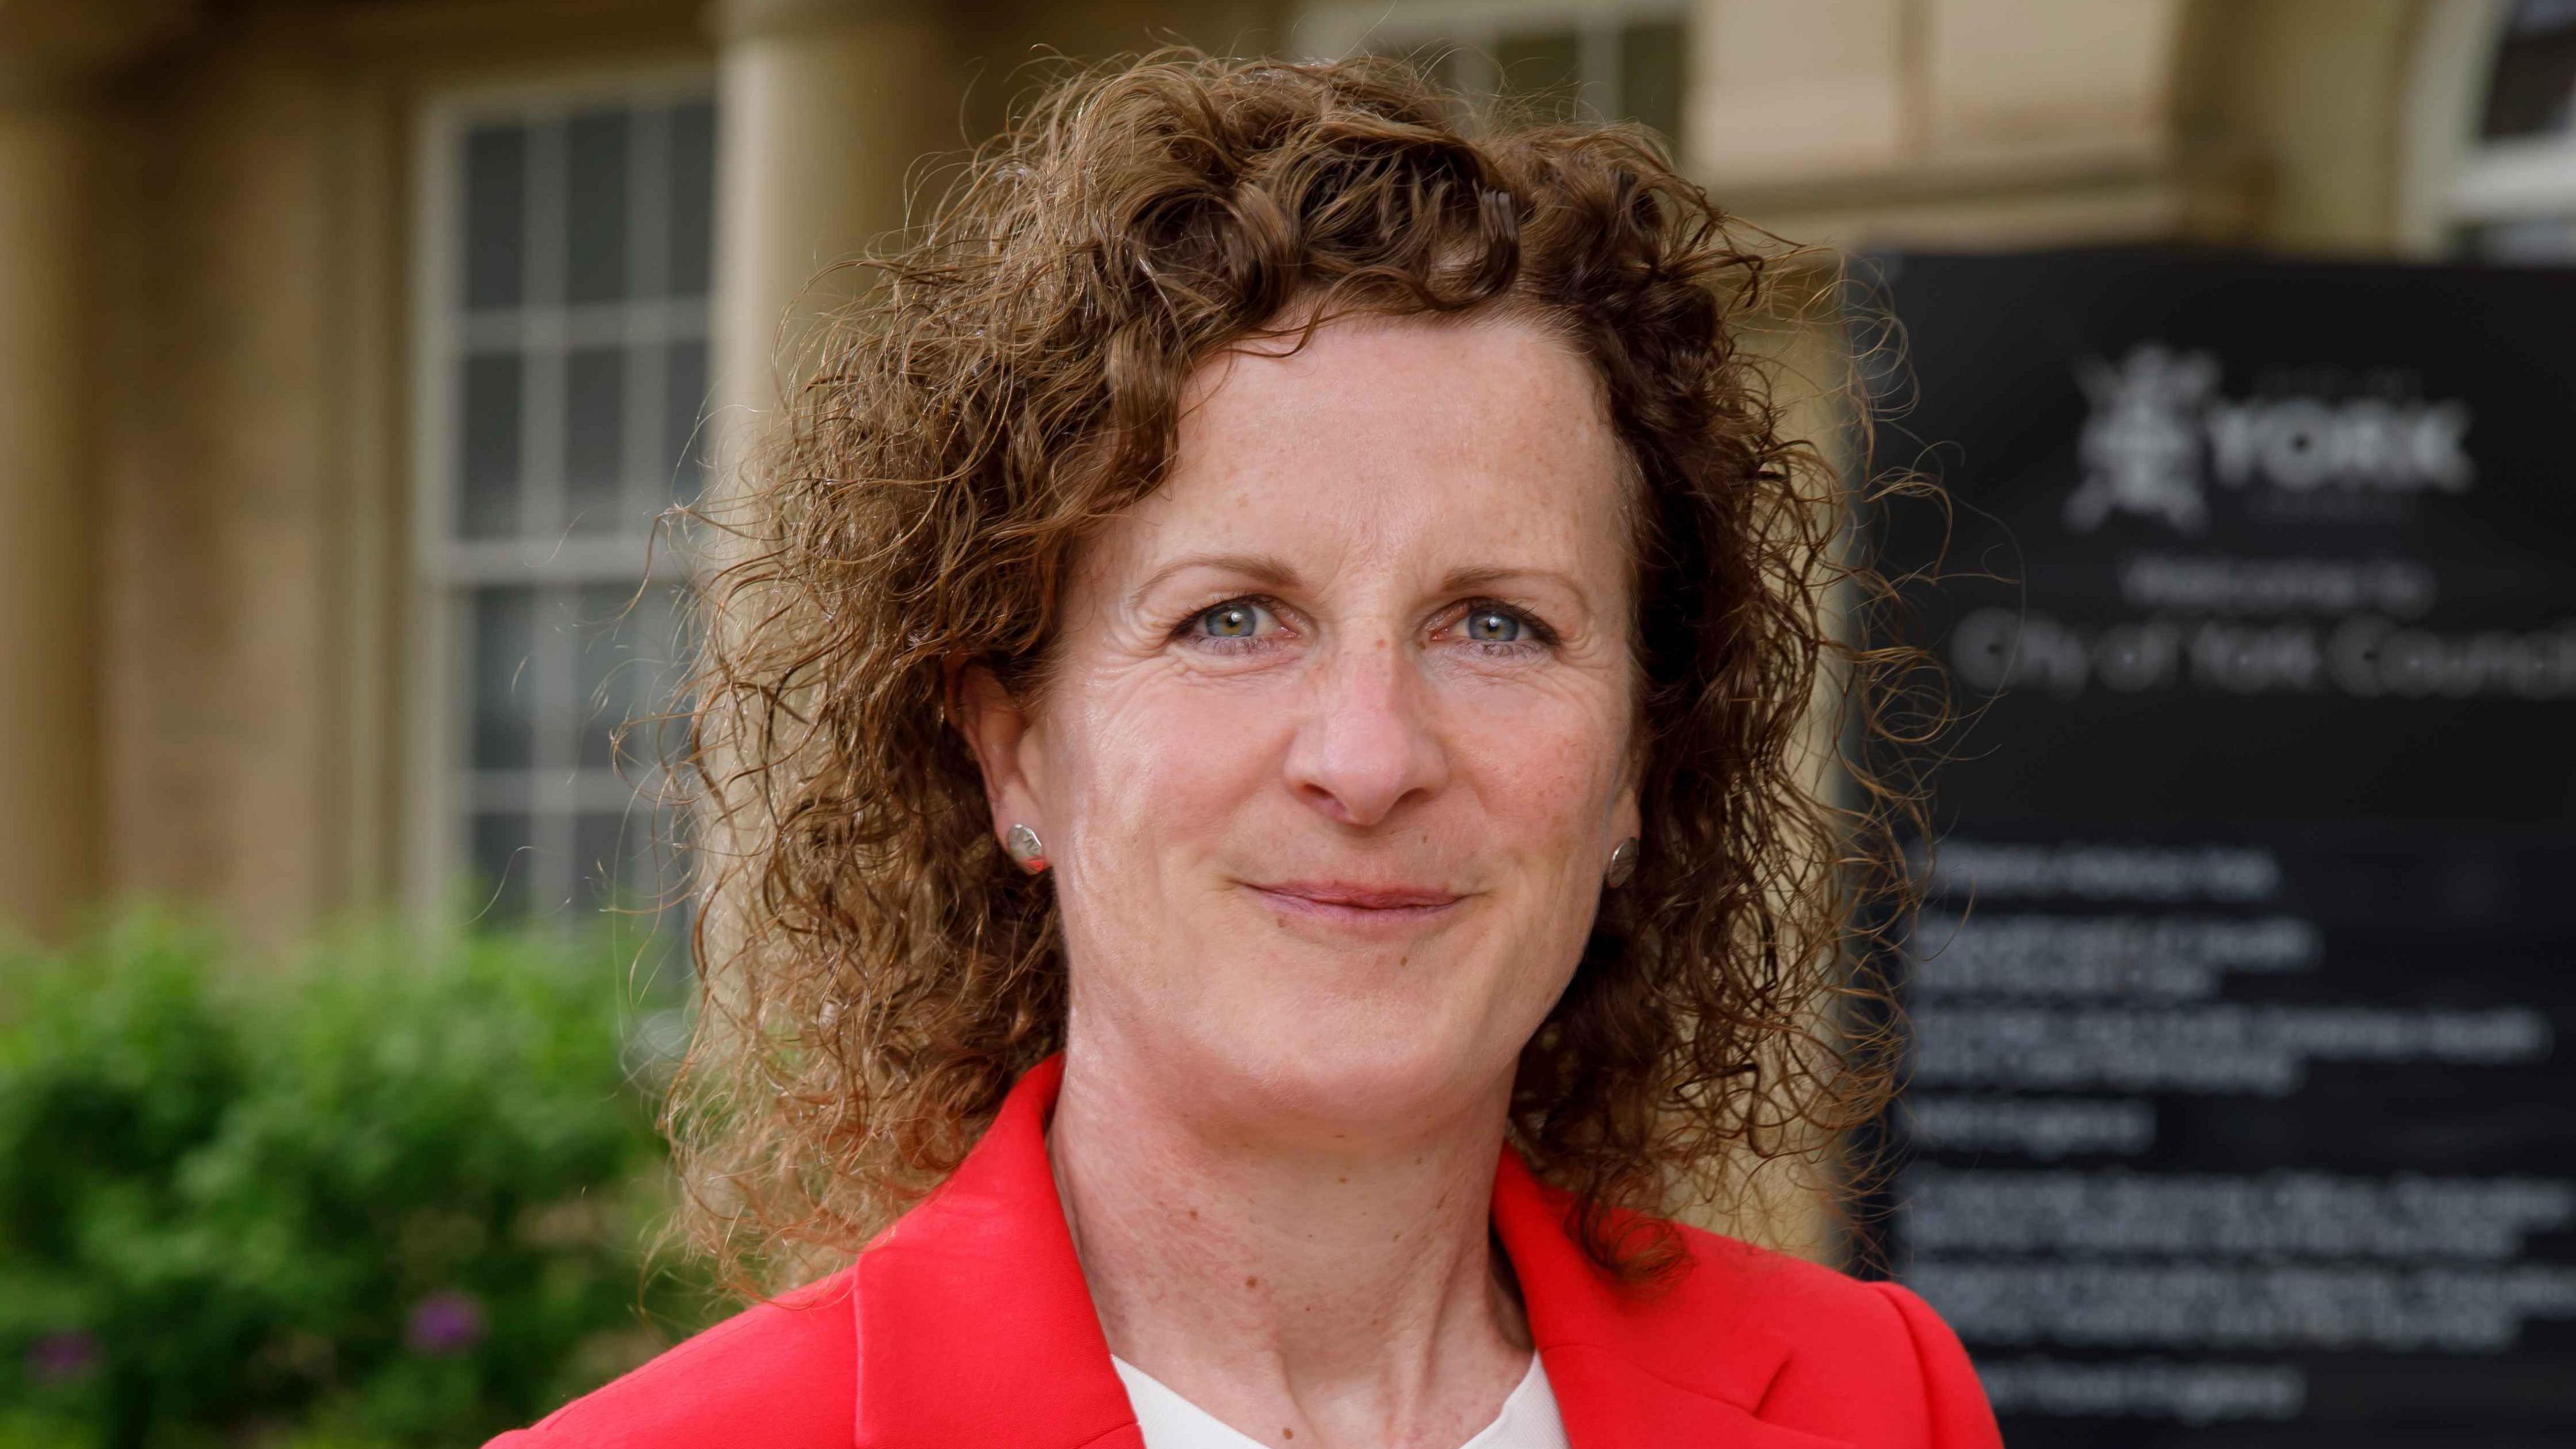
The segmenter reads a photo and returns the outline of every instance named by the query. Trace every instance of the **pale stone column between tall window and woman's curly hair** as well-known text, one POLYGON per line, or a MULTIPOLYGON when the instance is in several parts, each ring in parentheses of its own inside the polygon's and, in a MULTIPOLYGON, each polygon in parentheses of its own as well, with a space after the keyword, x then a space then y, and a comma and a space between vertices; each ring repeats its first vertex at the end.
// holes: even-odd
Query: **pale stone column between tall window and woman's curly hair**
POLYGON ((899 229, 922 157, 963 147, 961 83, 912 0, 724 0, 714 23, 714 382, 719 438, 739 443, 796 384, 814 320, 868 284, 819 273, 899 229))

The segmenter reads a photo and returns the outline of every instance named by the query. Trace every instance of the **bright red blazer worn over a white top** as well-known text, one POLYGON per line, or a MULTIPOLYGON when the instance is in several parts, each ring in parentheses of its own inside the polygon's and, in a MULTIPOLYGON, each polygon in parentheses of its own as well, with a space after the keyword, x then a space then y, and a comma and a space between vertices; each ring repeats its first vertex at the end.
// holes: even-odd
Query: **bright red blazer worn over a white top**
MULTIPOLYGON (((1061 1057, 858 1263, 752 1307, 492 1449, 1144 1449, 1046 1165, 1061 1057)), ((1999 1449, 1911 1292, 1685 1230, 1690 1276, 1602 1279, 1512 1150, 1494 1230, 1574 1449, 1999 1449)))

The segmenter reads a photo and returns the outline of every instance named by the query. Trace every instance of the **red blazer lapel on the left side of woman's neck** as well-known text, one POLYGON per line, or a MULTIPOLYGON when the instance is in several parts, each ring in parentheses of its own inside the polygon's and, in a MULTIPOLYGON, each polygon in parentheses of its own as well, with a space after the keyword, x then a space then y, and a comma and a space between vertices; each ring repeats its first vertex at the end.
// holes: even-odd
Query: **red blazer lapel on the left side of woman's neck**
POLYGON ((858 1258, 863 1449, 1144 1449, 1046 1163, 1064 1080, 1010 1088, 956 1173, 858 1258))

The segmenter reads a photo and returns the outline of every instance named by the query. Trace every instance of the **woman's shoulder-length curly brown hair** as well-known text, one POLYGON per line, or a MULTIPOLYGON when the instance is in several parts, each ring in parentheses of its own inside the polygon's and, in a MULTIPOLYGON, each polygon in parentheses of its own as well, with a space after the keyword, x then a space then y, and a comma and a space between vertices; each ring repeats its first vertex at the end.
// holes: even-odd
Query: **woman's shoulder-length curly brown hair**
POLYGON ((1886 1013, 1850 998, 1883 1003, 1852 964, 1901 797, 1862 771, 1837 804, 1816 758, 1868 735, 1819 706, 1886 665, 1834 601, 1883 585, 1741 345, 1783 255, 1747 237, 1638 126, 1476 111, 1391 59, 1159 52, 1056 83, 858 263, 878 286, 719 518, 690 683, 670 1127, 737 1281, 848 1258, 1064 1042, 1054 887, 997 848, 943 676, 1041 688, 1072 549, 1162 482, 1193 369, 1345 315, 1548 327, 1636 464, 1643 851, 1522 1052, 1517 1150, 1641 1279, 1710 1163, 1883 1106, 1886 1013))

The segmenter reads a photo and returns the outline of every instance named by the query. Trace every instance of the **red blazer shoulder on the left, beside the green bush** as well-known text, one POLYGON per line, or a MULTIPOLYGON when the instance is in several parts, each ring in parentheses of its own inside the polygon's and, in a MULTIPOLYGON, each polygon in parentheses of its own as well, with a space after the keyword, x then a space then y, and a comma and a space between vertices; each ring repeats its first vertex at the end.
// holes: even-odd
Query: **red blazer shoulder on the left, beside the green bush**
POLYGON ((755 1305, 487 1449, 845 1446, 858 1392, 855 1271, 755 1305))

